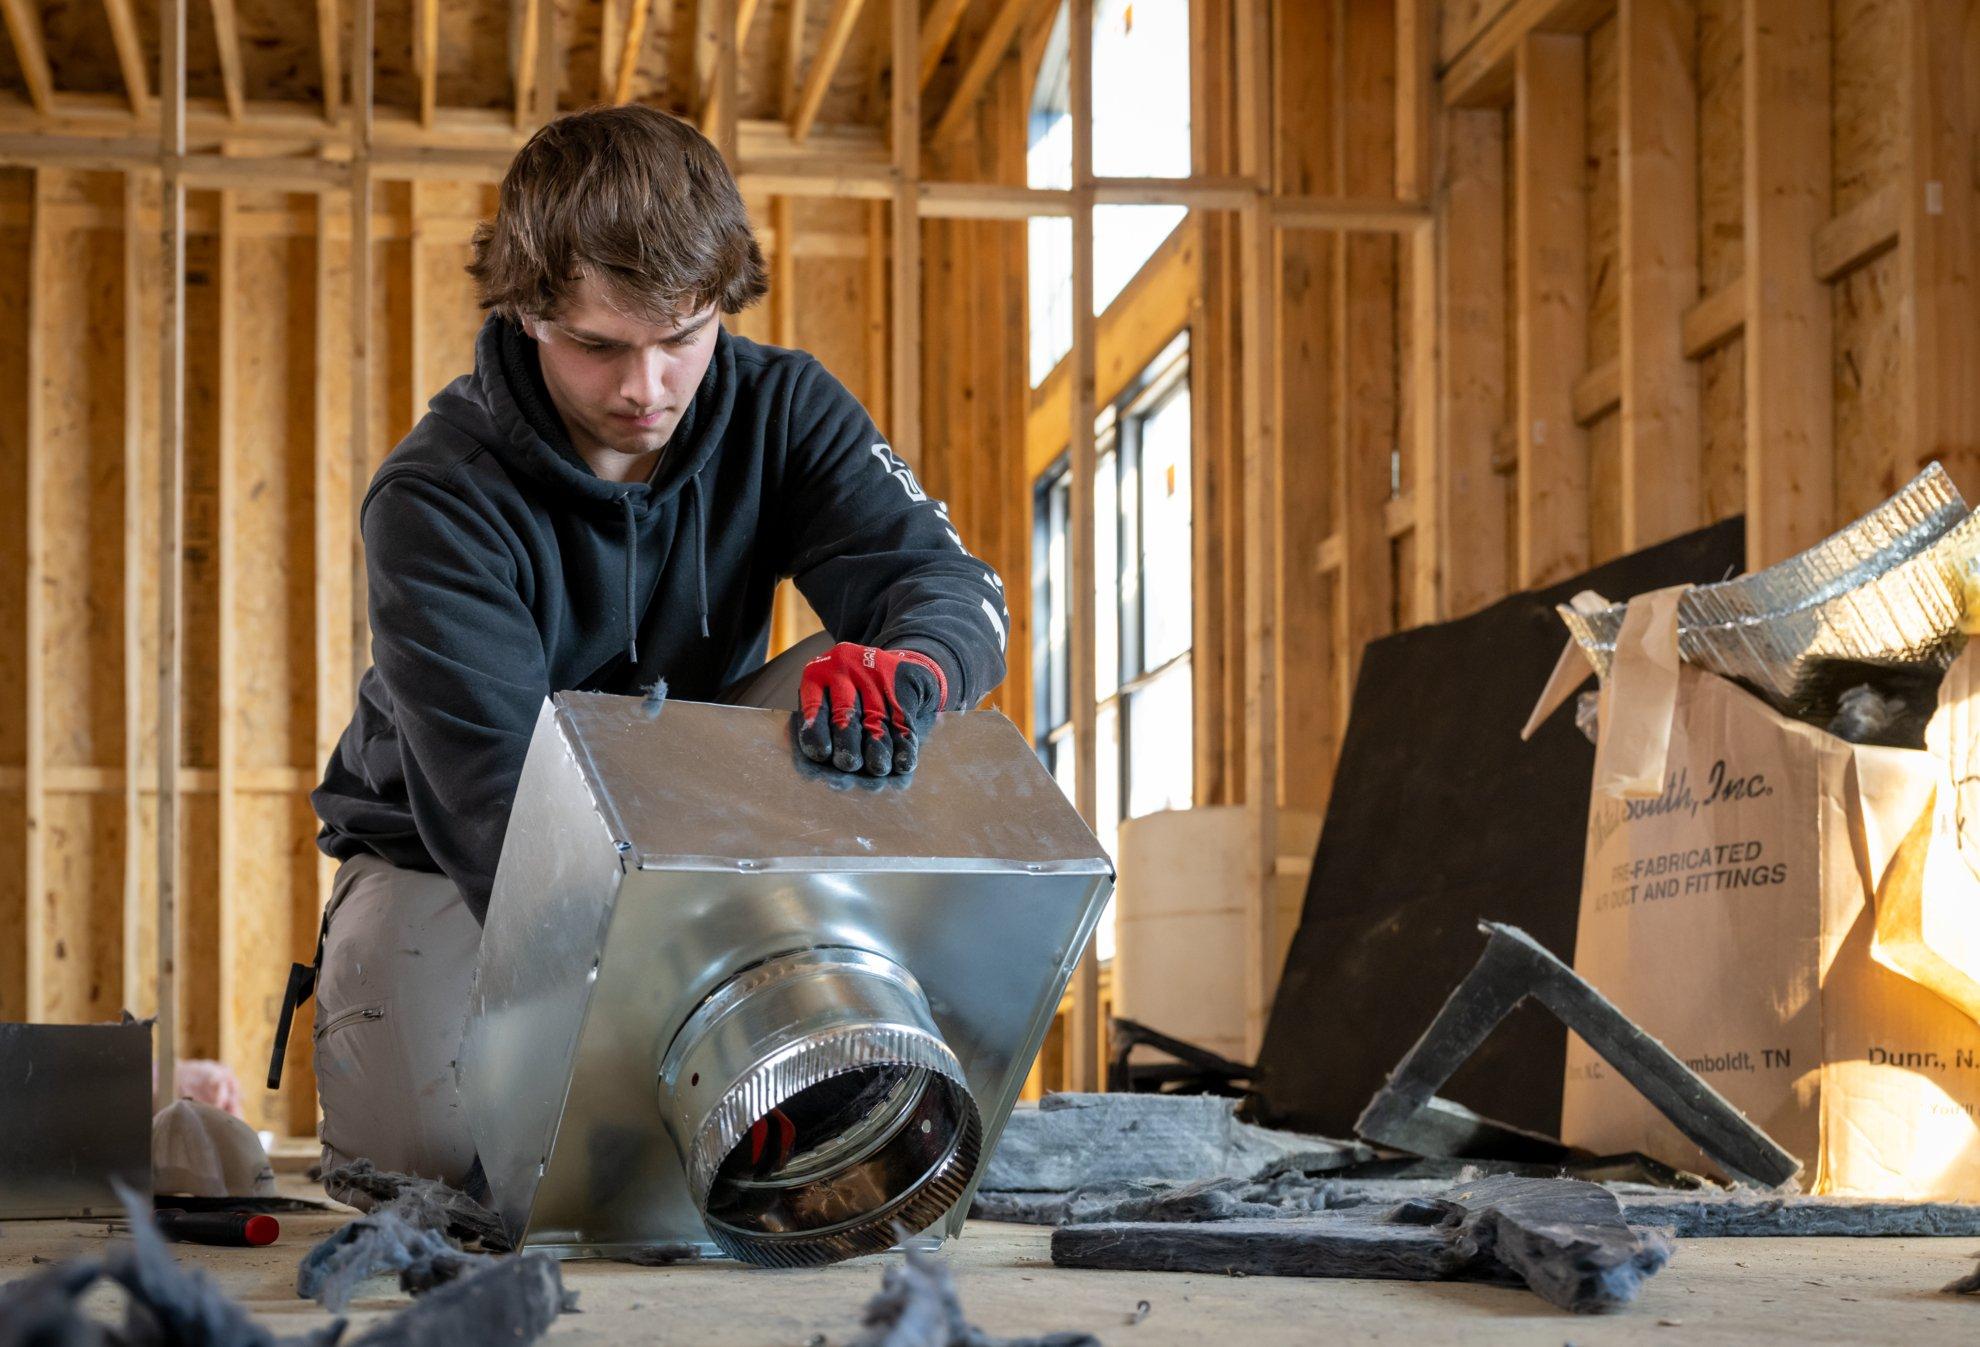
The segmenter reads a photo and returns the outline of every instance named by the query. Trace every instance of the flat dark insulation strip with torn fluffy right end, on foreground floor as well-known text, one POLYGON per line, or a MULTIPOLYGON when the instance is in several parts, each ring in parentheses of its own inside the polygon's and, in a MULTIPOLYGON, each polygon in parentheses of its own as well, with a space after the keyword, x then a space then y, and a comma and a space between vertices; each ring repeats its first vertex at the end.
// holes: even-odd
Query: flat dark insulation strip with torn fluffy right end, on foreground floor
POLYGON ((1634 1230, 1608 1189, 1505 1175, 1388 1208, 1051 1234, 1051 1262, 1061 1268, 1493 1282, 1582 1313, 1630 1303, 1669 1260, 1671 1240, 1634 1230))

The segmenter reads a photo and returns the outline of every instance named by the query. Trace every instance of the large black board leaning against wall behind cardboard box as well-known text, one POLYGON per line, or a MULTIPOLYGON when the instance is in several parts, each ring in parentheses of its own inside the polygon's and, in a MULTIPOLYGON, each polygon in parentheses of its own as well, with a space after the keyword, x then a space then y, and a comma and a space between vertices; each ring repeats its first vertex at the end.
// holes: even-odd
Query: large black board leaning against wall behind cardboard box
MULTIPOLYGON (((1368 642, 1259 1050, 1261 1121, 1352 1135, 1477 963, 1481 919, 1574 961, 1594 745, 1574 727, 1572 697, 1519 741, 1568 640, 1554 606, 1584 588, 1624 600, 1709 584, 1738 574, 1744 557, 1744 519, 1725 519, 1467 618, 1368 642)), ((1564 1066, 1566 1030, 1525 1004, 1441 1093, 1558 1135, 1564 1066)))

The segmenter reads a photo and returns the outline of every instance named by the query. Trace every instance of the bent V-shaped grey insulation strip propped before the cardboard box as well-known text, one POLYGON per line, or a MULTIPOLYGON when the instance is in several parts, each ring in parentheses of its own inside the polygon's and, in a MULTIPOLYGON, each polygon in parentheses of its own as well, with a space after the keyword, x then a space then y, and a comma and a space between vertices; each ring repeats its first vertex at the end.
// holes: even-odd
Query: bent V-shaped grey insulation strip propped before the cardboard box
POLYGON ((1362 1109, 1358 1135, 1416 1155, 1538 1159, 1536 1151, 1558 1147, 1437 1097, 1499 1020, 1531 996, 1734 1179, 1780 1187, 1802 1171, 1798 1159, 1531 935, 1497 921, 1481 921, 1479 929, 1487 941, 1477 967, 1362 1109))

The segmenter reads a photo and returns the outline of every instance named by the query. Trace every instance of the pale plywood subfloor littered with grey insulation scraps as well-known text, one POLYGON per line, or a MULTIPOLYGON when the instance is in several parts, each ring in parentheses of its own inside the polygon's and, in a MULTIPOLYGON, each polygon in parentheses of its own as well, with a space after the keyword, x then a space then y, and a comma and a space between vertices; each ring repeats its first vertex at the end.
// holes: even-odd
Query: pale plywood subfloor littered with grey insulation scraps
MULTIPOLYGON (((299 1189, 301 1192, 301 1189, 299 1189)), ((339 1216, 289 1216, 265 1250, 178 1246, 277 1333, 301 1333, 327 1315, 295 1299, 295 1264, 339 1216)), ((34 1258, 103 1248, 103 1226, 6 1222, 0 1282, 34 1258)), ((1972 1240, 1687 1240, 1677 1260, 1626 1313, 1576 1317, 1527 1292, 1408 1282, 1295 1282, 1190 1274, 1065 1272, 1049 1260, 1049 1232, 974 1224, 942 1258, 956 1272, 970 1317, 994 1335, 1083 1329, 1109 1347, 1168 1343, 1867 1343, 1974 1341, 1980 1297, 1938 1292, 1972 1266, 1972 1240), (1129 1325, 1137 1301, 1148 1315, 1129 1325)), ((582 1313, 550 1343, 695 1343, 701 1347, 845 1343, 879 1288, 885 1258, 816 1272, 737 1266, 634 1268, 564 1264, 582 1313)), ((390 1284, 350 1307, 352 1333, 396 1309, 390 1284)))

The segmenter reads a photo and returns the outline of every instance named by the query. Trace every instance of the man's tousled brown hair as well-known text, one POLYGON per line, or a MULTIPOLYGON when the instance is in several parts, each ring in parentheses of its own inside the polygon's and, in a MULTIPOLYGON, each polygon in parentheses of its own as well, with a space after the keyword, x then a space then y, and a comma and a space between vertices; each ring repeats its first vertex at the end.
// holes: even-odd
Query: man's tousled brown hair
POLYGON ((768 275, 742 192, 695 127, 655 107, 592 107, 544 125, 475 228, 475 293, 511 319, 552 317, 586 275, 647 321, 741 313, 768 275))

